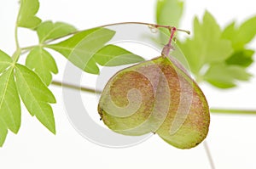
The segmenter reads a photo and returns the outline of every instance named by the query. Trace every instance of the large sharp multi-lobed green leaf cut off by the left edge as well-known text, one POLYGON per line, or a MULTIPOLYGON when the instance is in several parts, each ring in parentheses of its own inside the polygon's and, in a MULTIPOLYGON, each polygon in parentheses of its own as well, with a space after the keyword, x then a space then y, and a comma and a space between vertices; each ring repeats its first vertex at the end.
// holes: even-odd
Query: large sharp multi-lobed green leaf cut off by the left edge
POLYGON ((49 105, 55 103, 55 97, 38 75, 15 63, 1 50, 0 75, 0 146, 8 133, 7 129, 14 133, 20 129, 20 98, 31 115, 36 115, 45 127, 55 133, 54 116, 49 105))

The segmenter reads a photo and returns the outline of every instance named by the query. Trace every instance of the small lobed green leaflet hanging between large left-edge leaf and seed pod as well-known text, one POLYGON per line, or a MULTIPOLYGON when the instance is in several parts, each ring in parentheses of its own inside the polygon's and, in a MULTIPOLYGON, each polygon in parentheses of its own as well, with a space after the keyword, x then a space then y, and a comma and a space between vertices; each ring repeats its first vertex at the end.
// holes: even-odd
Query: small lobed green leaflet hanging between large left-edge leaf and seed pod
POLYGON ((47 86, 52 80, 51 72, 58 73, 55 59, 41 47, 32 48, 32 51, 27 55, 26 66, 34 70, 47 86))

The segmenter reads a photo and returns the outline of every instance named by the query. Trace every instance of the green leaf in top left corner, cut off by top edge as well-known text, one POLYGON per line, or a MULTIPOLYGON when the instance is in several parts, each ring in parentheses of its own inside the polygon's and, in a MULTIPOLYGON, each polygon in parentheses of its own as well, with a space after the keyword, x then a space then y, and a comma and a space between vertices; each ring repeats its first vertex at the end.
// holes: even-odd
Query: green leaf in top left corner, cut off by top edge
POLYGON ((30 29, 36 28, 41 20, 35 16, 38 13, 38 0, 20 0, 20 13, 17 20, 17 25, 30 29))

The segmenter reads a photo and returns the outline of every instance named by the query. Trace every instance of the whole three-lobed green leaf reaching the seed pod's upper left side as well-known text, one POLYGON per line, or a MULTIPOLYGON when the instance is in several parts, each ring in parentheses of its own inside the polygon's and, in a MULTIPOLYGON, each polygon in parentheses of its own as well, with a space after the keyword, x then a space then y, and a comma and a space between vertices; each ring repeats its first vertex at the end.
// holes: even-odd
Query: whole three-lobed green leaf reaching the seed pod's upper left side
POLYGON ((81 31, 63 42, 48 45, 63 56, 73 65, 91 74, 99 74, 100 65, 125 65, 142 61, 143 58, 131 54, 123 48, 114 45, 104 46, 110 41, 115 31, 98 27, 81 31), (111 61, 113 59, 113 61, 111 61))

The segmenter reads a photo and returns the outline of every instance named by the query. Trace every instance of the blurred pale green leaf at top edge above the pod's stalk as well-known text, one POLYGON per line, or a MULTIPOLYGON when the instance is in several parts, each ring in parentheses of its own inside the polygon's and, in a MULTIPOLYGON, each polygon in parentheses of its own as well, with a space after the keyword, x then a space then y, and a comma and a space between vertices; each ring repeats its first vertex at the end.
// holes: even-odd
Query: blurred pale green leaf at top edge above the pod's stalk
POLYGON ((183 1, 158 0, 156 5, 156 22, 159 25, 178 26, 183 14, 183 1))

